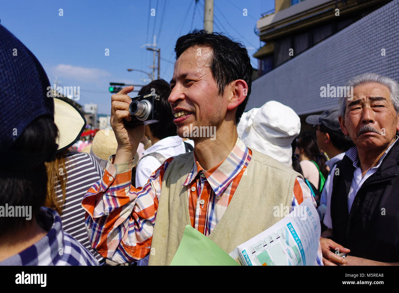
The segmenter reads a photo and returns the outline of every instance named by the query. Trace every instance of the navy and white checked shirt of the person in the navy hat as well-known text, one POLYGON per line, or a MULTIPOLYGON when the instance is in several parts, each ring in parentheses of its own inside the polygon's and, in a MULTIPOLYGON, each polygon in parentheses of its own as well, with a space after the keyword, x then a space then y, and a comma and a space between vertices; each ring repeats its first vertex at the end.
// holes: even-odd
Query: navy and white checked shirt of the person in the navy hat
POLYGON ((98 265, 82 244, 63 231, 55 210, 42 206, 36 221, 48 231, 47 235, 0 265, 98 265))

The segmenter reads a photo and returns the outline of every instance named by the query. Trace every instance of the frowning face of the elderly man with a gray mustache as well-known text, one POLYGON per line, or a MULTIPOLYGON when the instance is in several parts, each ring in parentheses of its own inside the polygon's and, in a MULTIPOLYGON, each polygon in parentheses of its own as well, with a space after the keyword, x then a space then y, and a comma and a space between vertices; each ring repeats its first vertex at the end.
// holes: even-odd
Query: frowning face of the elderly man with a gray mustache
POLYGON ((390 99, 389 89, 379 83, 354 88, 352 101, 346 100, 341 129, 357 147, 387 147, 399 130, 399 116, 390 99))

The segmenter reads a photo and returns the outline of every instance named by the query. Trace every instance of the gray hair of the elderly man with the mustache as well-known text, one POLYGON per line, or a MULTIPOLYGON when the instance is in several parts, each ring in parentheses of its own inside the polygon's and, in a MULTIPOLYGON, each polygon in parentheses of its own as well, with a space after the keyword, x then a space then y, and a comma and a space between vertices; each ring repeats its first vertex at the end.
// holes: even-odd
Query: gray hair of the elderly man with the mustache
MULTIPOLYGON (((389 98, 393 104, 393 108, 395 108, 396 114, 399 113, 399 84, 397 81, 376 73, 363 73, 351 78, 346 86, 355 88, 358 85, 364 85, 365 83, 379 83, 380 85, 385 85, 385 87, 389 89, 389 98)), ((342 118, 345 117, 346 98, 347 97, 344 96, 339 99, 340 115, 342 118)))

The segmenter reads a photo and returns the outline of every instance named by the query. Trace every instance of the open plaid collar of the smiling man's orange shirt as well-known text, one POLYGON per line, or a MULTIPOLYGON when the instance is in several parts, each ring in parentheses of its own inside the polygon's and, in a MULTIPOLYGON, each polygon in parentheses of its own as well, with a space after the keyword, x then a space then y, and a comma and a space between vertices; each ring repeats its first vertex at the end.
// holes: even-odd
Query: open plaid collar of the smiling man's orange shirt
POLYGON ((194 155, 194 166, 188 174, 186 181, 183 186, 189 185, 196 178, 198 173, 204 173, 209 185, 215 192, 215 195, 220 195, 227 186, 233 181, 233 179, 243 169, 245 162, 248 157, 248 148, 245 146, 243 141, 237 137, 235 146, 229 153, 229 155, 216 166, 205 171, 199 164, 195 153, 194 155))

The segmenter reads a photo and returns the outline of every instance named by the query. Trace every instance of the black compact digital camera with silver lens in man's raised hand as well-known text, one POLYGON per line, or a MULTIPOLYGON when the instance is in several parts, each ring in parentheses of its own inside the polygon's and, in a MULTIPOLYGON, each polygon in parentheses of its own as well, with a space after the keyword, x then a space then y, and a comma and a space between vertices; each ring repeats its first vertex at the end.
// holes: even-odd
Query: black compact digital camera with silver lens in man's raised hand
POLYGON ((160 100, 159 94, 150 92, 142 94, 132 99, 129 105, 131 121, 124 120, 124 125, 128 128, 139 125, 146 125, 160 121, 160 100))

